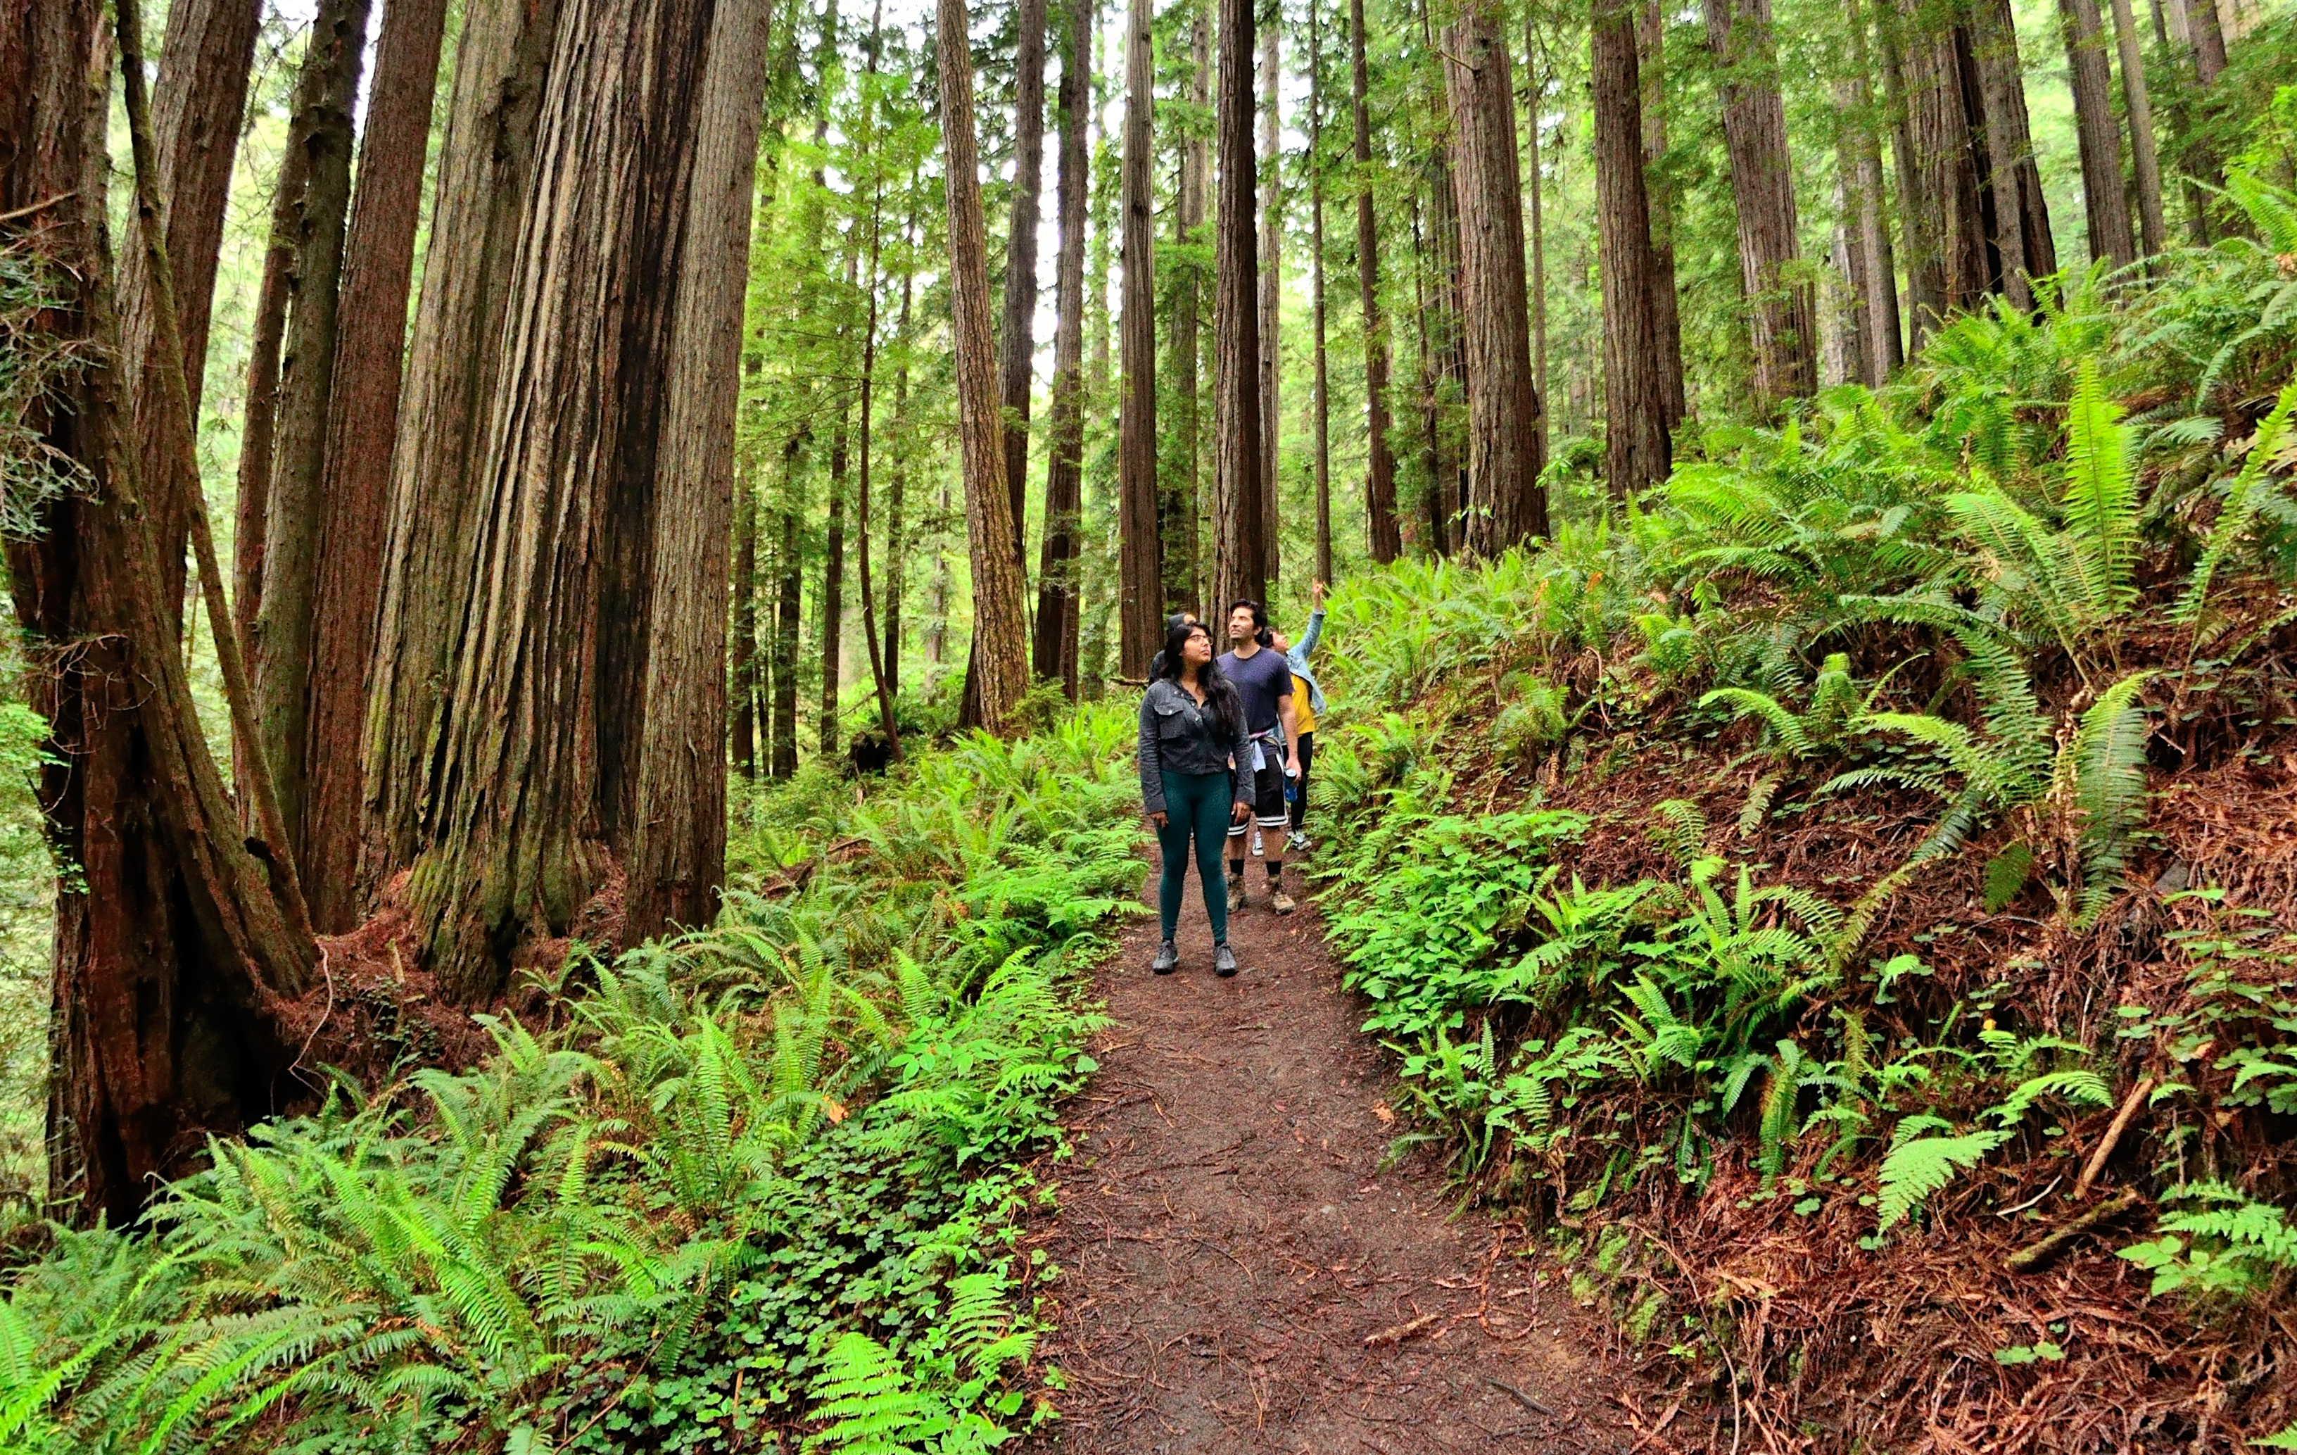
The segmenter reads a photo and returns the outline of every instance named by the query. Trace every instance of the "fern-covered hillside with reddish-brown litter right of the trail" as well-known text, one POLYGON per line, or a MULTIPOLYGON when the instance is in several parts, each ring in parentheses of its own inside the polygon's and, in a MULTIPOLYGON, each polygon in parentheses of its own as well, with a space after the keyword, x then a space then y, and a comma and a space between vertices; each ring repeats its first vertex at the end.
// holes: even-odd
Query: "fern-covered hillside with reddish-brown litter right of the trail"
POLYGON ((2051 1409, 2019 1448, 2297 1418, 2297 349, 2207 342, 2274 248, 1955 320, 1332 602, 1314 871, 1406 1140, 1760 1372, 1769 1439, 1941 1444, 1939 1388, 2051 1409))

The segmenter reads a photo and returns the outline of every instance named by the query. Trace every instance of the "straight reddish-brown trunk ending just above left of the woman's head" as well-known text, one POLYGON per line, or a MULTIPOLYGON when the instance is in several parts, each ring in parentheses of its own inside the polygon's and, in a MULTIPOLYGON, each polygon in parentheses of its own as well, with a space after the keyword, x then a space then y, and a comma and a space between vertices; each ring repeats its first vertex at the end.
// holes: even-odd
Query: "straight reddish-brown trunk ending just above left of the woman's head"
POLYGON ((1116 671, 1139 680, 1160 646, 1165 561, 1155 469, 1155 48, 1151 0, 1126 14, 1123 313, 1116 411, 1116 671))

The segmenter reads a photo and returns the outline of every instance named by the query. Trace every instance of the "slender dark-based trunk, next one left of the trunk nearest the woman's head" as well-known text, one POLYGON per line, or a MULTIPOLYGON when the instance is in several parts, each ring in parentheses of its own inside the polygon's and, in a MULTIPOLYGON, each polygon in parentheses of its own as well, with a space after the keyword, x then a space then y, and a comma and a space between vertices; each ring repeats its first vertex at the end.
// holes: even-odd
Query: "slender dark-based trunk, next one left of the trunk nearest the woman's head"
POLYGON ((1061 218, 1061 255, 1054 267, 1052 416, 1045 421, 1045 540, 1036 572, 1036 655, 1041 680, 1057 680, 1077 701, 1077 510, 1084 506, 1084 205, 1091 172, 1084 152, 1084 99, 1093 78, 1084 71, 1091 37, 1091 0, 1064 5, 1068 34, 1061 37, 1059 147, 1061 172, 1054 209, 1061 218))

